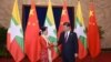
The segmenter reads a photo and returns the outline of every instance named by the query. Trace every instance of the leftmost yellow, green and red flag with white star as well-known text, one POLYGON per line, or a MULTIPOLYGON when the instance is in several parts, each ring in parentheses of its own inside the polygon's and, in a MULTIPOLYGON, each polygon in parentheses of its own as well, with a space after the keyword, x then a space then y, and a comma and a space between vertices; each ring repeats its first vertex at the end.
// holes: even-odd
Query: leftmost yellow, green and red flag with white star
POLYGON ((23 32, 19 16, 18 0, 14 1, 10 27, 7 34, 7 48, 16 62, 20 62, 23 54, 23 32))

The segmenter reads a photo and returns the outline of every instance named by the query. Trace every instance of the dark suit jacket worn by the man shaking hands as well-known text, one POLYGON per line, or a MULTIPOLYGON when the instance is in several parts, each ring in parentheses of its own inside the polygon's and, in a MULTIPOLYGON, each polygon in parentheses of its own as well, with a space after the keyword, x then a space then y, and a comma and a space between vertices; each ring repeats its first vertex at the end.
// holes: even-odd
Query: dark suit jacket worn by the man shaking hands
POLYGON ((78 53, 78 38, 73 31, 70 31, 68 41, 65 42, 64 32, 60 34, 59 44, 62 44, 62 53, 73 54, 78 53))

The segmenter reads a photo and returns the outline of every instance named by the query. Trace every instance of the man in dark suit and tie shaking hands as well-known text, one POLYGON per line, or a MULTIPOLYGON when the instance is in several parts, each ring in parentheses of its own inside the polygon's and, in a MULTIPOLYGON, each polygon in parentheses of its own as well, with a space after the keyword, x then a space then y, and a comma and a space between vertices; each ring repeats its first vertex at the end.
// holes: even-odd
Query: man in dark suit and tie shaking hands
POLYGON ((59 44, 62 45, 61 56, 63 62, 75 62, 75 56, 78 55, 78 38, 70 27, 69 22, 64 22, 64 31, 59 38, 59 44))

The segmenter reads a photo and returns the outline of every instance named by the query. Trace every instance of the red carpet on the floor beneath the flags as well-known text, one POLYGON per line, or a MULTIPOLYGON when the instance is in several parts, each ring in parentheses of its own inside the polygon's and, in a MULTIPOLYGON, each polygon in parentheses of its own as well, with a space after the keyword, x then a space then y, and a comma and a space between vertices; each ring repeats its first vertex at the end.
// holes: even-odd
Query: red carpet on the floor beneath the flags
MULTIPOLYGON (((9 59, 9 58, 7 58, 7 59, 6 58, 0 58, 0 62, 14 62, 14 61, 13 61, 13 59, 9 59)), ((28 61, 28 59, 26 59, 21 62, 29 62, 29 61, 28 61)), ((61 62, 61 59, 59 58, 54 62, 61 62)), ((92 59, 90 55, 88 55, 83 60, 77 59, 77 62, 111 62, 111 52, 105 52, 105 53, 102 52, 95 59, 92 59)))

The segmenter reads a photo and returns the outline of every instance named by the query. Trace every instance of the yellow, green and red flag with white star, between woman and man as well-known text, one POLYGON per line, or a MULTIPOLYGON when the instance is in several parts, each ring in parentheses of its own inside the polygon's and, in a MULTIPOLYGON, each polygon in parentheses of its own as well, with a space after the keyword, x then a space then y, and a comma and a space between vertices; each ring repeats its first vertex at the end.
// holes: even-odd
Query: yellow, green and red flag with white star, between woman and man
MULTIPOLYGON (((51 6, 50 0, 49 0, 49 6, 48 6, 44 25, 48 27, 49 41, 52 42, 52 43, 53 42, 57 43, 57 29, 56 29, 56 23, 54 23, 53 12, 52 12, 52 6, 51 6)), ((58 48, 54 46, 51 51, 52 51, 52 53, 51 53, 52 60, 54 60, 58 56, 58 48)))

